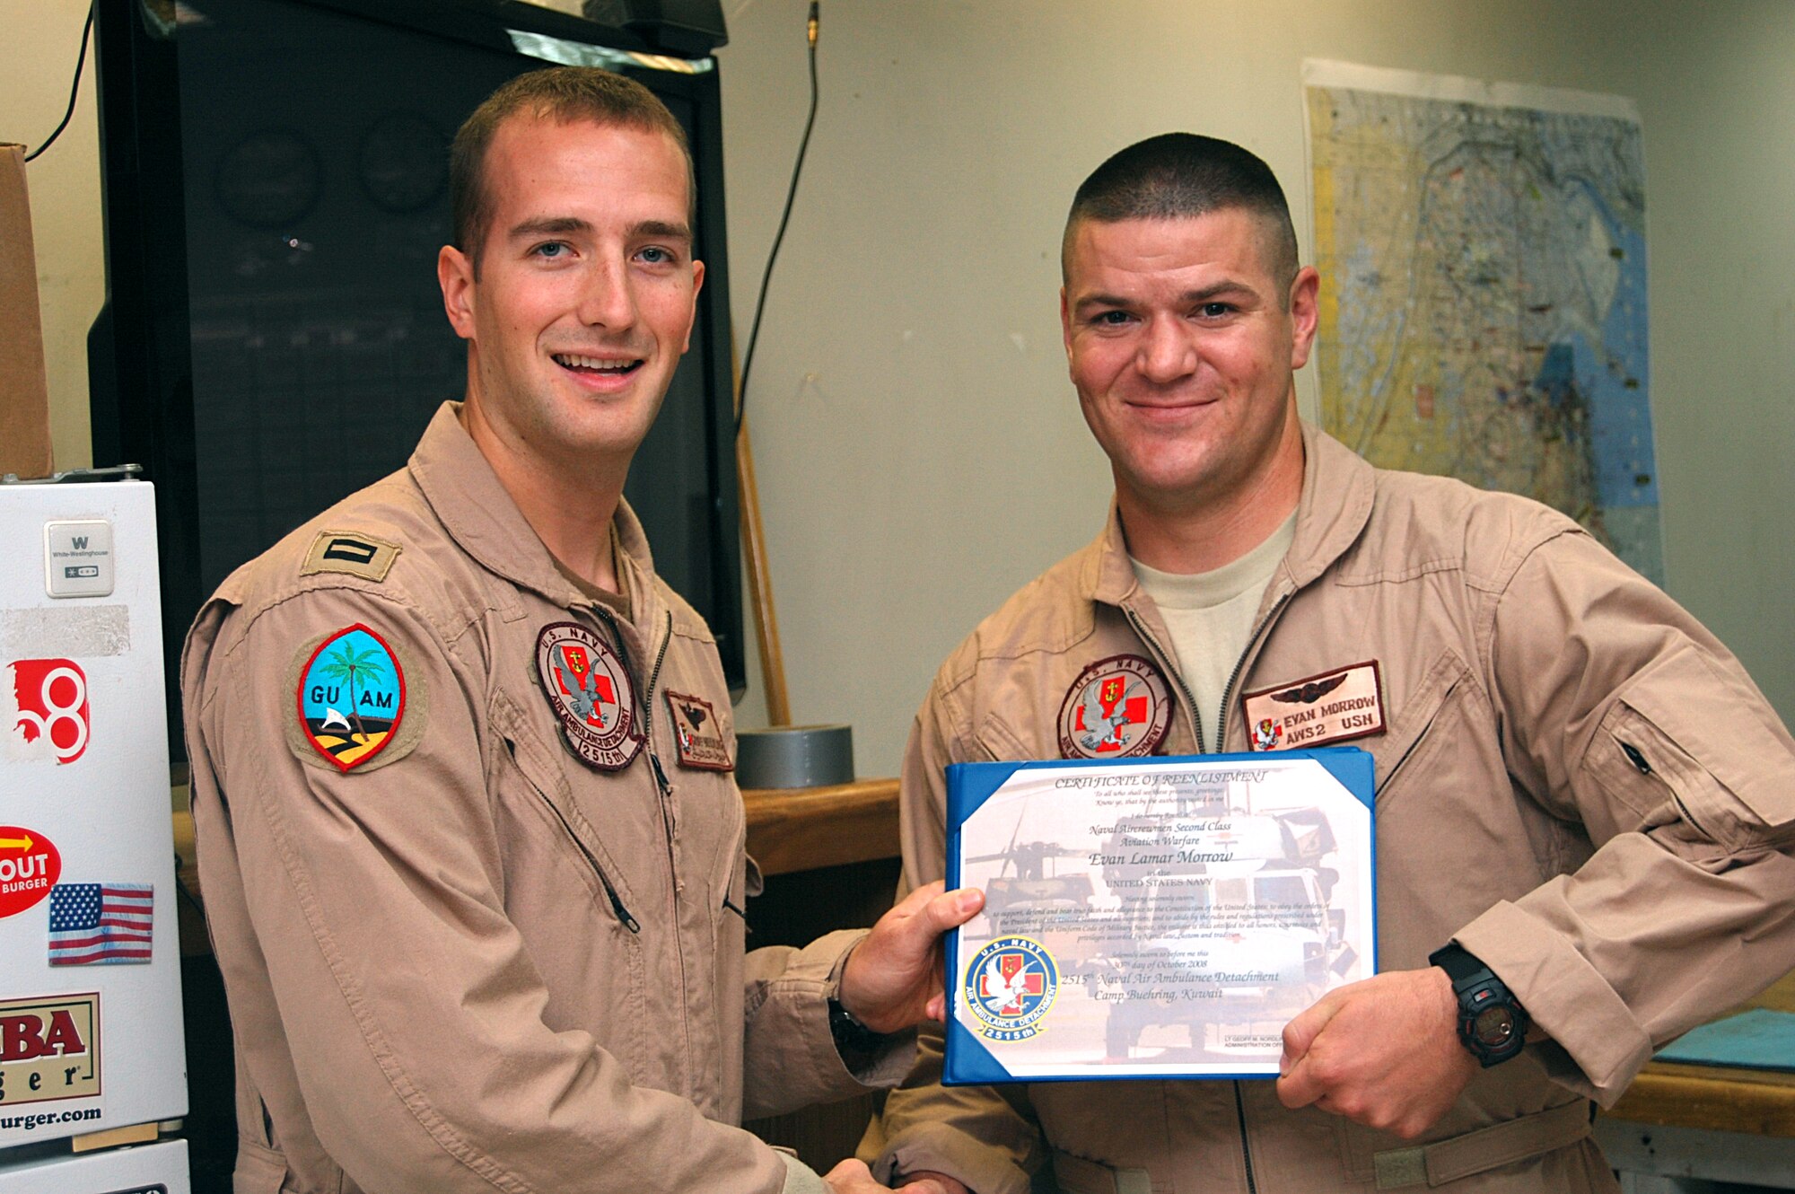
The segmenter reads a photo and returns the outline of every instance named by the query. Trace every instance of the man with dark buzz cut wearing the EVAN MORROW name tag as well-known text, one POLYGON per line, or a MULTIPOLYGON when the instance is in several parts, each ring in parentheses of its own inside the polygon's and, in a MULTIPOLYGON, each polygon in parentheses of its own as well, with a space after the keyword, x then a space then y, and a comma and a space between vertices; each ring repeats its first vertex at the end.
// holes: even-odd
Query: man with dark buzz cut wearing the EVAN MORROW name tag
POLYGON ((1298 420, 1319 280, 1251 153, 1174 133, 1115 154, 1063 269, 1115 505, 937 673, 905 882, 942 874, 942 768, 1081 756, 1063 727, 1118 659, 1149 698, 1129 754, 1283 749, 1278 697, 1353 691, 1370 733, 1316 706, 1303 745, 1375 758, 1382 973, 1285 1027, 1276 1081, 942 1088, 926 1032, 862 1154, 976 1194, 1048 1165, 1072 1194, 1617 1189, 1592 1101, 1795 962, 1795 742, 1571 519, 1298 420), (1474 991, 1506 1036, 1461 1034, 1474 991))

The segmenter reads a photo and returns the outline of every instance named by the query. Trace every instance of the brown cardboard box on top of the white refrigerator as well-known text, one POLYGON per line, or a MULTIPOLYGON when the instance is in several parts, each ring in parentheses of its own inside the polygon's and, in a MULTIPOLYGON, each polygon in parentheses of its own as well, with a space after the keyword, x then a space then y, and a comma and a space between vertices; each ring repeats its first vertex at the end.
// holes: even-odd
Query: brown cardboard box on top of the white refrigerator
POLYGON ((43 373, 25 147, 0 145, 0 474, 43 478, 50 469, 50 386, 43 373))

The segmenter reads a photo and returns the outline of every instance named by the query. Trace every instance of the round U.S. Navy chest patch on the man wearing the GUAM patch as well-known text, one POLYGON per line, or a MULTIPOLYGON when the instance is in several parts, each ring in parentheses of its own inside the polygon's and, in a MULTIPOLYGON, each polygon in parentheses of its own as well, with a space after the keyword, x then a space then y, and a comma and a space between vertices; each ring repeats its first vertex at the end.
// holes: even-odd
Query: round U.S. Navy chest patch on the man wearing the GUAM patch
POLYGON ((630 765, 643 749, 635 688, 610 643, 578 621, 551 621, 537 636, 537 679, 569 751, 598 770, 630 765))

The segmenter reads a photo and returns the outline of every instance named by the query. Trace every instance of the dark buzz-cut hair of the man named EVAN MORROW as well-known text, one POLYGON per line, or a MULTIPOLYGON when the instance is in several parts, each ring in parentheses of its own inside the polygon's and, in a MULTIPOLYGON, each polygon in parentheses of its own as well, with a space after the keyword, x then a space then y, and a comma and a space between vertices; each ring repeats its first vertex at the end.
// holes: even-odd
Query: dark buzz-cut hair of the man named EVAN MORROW
MULTIPOLYGON (((1127 219, 1194 219, 1219 210, 1244 210, 1265 223, 1271 277, 1296 278, 1296 228, 1283 187, 1256 154, 1215 136, 1161 133, 1122 149, 1091 171, 1072 199, 1061 242, 1061 273, 1079 224, 1127 219)), ((1289 296, 1285 296, 1289 302, 1289 296)))

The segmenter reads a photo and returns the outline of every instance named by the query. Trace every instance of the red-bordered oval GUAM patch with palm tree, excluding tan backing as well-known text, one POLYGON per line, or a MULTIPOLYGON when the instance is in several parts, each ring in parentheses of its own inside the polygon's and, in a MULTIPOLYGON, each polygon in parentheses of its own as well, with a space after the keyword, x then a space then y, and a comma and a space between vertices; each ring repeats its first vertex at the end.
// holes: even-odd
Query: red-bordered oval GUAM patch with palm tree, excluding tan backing
POLYGON ((294 695, 305 742, 345 772, 372 763, 406 720, 406 670, 359 621, 325 636, 300 666, 294 695))

